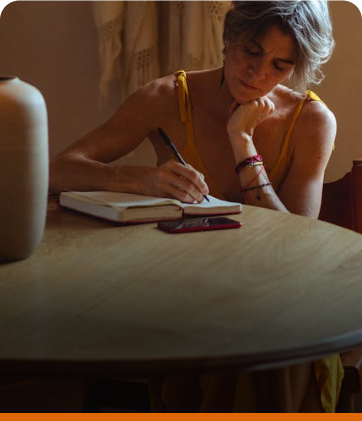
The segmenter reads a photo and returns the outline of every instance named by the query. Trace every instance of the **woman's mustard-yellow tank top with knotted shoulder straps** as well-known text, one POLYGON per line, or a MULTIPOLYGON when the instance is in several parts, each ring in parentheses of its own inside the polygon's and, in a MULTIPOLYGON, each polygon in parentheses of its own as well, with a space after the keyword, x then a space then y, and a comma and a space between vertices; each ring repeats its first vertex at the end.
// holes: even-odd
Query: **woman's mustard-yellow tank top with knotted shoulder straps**
MULTIPOLYGON (((185 161, 191 164, 199 172, 204 174, 205 181, 210 189, 210 194, 216 196, 220 199, 225 199, 220 188, 217 186, 216 182, 212 180, 205 164, 203 163, 197 146, 195 143, 194 136, 194 126, 192 119, 192 109, 191 109, 191 99, 190 93, 186 81, 186 73, 183 70, 180 70, 175 73, 178 81, 178 96, 179 96, 179 112, 180 112, 180 121, 186 125, 186 142, 181 148, 181 155, 184 157, 185 161)), ((289 154, 289 143, 293 133, 295 123, 298 119, 298 116, 304 106, 304 104, 309 100, 321 101, 321 99, 312 91, 306 92, 306 97, 300 101, 298 104, 292 122, 287 131, 286 138, 283 142, 282 149, 277 161, 272 166, 272 169, 268 173, 268 177, 273 183, 274 189, 277 191, 283 182, 284 178, 287 175, 291 164, 291 156, 289 154)))

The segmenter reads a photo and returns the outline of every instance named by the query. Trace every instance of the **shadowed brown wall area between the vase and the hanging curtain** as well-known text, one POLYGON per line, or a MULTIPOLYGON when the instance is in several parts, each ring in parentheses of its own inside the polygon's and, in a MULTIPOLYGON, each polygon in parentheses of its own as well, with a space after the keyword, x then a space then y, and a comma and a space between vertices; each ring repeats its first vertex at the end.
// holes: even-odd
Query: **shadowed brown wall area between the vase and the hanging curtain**
POLYGON ((97 37, 90 1, 12 1, 0 15, 0 74, 44 94, 53 156, 108 115, 98 108, 97 37))

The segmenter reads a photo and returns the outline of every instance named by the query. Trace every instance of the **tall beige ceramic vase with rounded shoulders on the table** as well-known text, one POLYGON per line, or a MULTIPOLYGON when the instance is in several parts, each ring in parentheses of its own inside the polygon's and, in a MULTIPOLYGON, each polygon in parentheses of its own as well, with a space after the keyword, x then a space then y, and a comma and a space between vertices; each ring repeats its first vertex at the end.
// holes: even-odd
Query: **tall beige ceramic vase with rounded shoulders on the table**
POLYGON ((48 123, 43 95, 0 76, 0 262, 29 257, 45 228, 48 123))

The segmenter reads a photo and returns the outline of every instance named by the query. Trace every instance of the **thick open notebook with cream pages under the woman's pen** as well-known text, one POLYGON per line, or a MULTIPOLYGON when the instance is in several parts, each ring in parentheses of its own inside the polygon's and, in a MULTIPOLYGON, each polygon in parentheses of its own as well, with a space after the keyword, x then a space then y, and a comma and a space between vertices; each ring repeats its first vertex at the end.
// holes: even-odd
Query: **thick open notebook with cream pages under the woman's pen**
POLYGON ((229 215, 241 212, 241 203, 226 202, 208 195, 210 202, 182 203, 177 199, 111 191, 60 193, 60 205, 115 222, 142 223, 192 215, 229 215))

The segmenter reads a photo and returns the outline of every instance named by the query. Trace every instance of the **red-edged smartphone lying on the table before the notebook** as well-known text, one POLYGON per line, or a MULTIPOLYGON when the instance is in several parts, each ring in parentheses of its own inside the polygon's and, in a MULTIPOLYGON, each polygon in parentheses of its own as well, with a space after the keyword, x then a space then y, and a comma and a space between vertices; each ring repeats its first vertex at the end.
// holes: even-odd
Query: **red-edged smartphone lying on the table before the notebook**
POLYGON ((202 217, 190 219, 176 219, 173 221, 158 222, 157 228, 166 233, 193 233, 196 231, 225 230, 240 228, 241 222, 227 217, 202 217))

